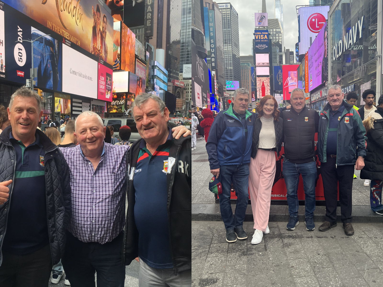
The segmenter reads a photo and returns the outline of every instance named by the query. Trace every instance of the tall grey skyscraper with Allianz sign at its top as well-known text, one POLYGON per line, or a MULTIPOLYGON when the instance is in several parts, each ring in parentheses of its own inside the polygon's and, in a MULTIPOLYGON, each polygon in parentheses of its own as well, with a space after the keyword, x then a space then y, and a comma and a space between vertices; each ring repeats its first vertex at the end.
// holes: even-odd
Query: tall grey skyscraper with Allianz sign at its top
POLYGON ((222 13, 225 80, 241 80, 238 13, 231 3, 218 3, 222 13))

